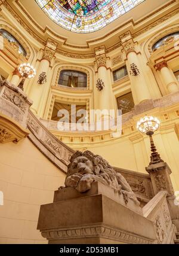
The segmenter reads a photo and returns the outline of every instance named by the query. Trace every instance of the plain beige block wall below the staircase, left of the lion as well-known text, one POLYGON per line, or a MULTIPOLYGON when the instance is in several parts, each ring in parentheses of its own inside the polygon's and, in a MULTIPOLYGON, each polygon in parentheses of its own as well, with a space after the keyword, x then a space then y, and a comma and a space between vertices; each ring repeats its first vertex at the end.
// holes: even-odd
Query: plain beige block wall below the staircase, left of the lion
POLYGON ((47 243, 36 230, 40 205, 53 202, 65 174, 23 139, 0 144, 0 243, 47 243))

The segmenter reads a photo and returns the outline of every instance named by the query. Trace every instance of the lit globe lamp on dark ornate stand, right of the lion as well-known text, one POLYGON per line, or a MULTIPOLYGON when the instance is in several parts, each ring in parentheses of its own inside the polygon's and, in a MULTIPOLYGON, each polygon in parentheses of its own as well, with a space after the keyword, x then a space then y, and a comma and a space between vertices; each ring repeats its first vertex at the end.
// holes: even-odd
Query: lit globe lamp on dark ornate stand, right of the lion
POLYGON ((152 154, 150 156, 150 164, 161 163, 163 160, 161 159, 159 153, 156 150, 155 144, 153 142, 152 135, 156 130, 160 127, 160 121, 156 117, 144 117, 141 118, 140 121, 137 122, 137 129, 141 133, 146 133, 146 135, 150 138, 150 146, 152 154))

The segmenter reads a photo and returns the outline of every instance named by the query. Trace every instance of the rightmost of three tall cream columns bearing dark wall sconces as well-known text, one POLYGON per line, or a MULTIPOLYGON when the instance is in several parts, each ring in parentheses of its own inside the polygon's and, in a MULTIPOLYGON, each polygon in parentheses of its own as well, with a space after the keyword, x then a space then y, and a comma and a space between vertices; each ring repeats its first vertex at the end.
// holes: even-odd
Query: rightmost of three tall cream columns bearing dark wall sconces
POLYGON ((126 55, 126 66, 131 81, 131 91, 132 95, 134 95, 135 105, 137 105, 144 100, 152 99, 152 96, 150 95, 142 65, 138 58, 140 53, 137 53, 135 50, 133 39, 127 34, 121 37, 121 41, 126 55))

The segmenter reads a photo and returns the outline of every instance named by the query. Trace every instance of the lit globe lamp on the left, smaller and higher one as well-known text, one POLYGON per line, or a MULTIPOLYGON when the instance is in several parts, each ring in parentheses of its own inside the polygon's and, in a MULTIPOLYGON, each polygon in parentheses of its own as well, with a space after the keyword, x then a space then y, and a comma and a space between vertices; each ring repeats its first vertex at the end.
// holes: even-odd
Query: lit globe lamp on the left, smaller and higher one
POLYGON ((22 77, 20 84, 18 84, 18 88, 24 90, 24 81, 26 78, 33 78, 36 75, 36 71, 29 63, 23 63, 19 66, 18 71, 22 77))

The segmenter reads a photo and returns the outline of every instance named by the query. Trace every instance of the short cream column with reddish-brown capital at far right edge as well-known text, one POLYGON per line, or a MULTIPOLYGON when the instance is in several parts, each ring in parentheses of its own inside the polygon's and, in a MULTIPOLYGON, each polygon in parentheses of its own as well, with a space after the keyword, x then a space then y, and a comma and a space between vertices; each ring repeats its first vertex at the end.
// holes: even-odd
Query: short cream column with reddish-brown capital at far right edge
POLYGON ((168 93, 178 92, 177 80, 175 80, 172 71, 168 68, 166 60, 157 63, 155 68, 157 71, 161 72, 168 93))

